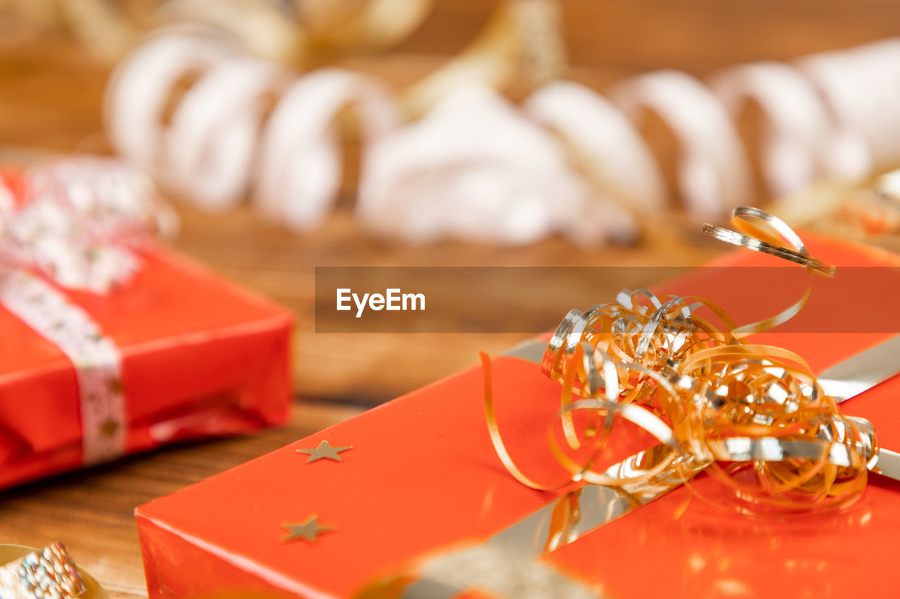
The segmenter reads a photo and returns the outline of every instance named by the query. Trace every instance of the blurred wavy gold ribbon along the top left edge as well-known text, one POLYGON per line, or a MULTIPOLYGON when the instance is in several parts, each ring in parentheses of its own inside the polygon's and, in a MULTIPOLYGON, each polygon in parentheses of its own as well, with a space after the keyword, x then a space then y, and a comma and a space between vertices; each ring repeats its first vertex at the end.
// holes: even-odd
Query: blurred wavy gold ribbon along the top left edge
POLYGON ((0 33, 66 29, 96 58, 114 62, 153 26, 202 23, 263 58, 312 67, 398 43, 434 0, 0 0, 0 33), (4 27, 4 22, 13 26, 4 27))

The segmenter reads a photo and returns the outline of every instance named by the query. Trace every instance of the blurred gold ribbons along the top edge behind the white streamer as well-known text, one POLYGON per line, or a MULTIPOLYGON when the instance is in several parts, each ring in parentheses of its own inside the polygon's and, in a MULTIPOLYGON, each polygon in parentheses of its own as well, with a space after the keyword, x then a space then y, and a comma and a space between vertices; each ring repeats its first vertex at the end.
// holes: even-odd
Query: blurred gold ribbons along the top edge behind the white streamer
MULTIPOLYGON (((121 57, 151 24, 198 22, 229 31, 264 58, 308 68, 391 47, 416 31, 434 4, 435 0, 146 0, 123 5, 109 0, 45 0, 39 17, 67 22, 79 40, 105 59, 121 57)), ((24 18, 35 11, 23 8, 20 13, 24 18)), ((31 16, 32 21, 35 18, 31 16)), ((466 83, 502 89, 524 75, 527 85, 534 87, 561 76, 566 58, 559 21, 554 0, 502 0, 467 48, 410 87, 406 93, 410 114, 427 111, 466 83)))

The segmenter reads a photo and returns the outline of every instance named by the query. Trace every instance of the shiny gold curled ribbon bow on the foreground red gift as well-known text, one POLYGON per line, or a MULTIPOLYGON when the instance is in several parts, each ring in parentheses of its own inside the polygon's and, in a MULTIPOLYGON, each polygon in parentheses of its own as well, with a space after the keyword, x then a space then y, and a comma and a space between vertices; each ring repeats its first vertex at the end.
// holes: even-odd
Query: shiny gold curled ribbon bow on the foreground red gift
POLYGON ((774 317, 744 326, 735 326, 708 299, 658 297, 645 290, 624 291, 616 302, 586 312, 570 311, 541 364, 562 387, 562 434, 551 424, 547 435, 554 460, 567 472, 564 480, 536 481, 509 456, 497 424, 491 362, 482 354, 491 443, 513 477, 544 490, 572 483, 626 487, 675 477, 698 495, 690 479, 704 470, 734 502, 702 498, 752 514, 849 505, 860 496, 877 460, 874 427, 843 416, 796 353, 746 340, 796 315, 809 298, 814 273, 833 276, 835 269, 810 256, 797 233, 767 212, 741 207, 732 222, 740 232, 712 225, 704 231, 805 267, 806 292, 774 317), (721 324, 698 315, 698 308, 708 308, 721 324), (573 415, 582 410, 588 424, 579 433, 573 415), (622 420, 661 445, 616 468, 595 470, 622 420), (563 449, 585 446, 587 460, 563 449))

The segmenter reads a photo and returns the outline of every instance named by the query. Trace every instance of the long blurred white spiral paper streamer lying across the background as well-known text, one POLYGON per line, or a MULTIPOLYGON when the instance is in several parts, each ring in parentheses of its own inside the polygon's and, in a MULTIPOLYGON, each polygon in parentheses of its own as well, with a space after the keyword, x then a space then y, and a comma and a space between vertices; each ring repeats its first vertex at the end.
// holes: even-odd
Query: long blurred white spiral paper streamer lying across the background
MULTIPOLYGON (((540 13, 526 4, 510 6, 523 17, 540 13)), ((761 168, 773 197, 900 163, 892 108, 900 92, 883 83, 900 64, 898 40, 793 64, 733 67, 708 86, 680 71, 656 71, 615 85, 608 98, 563 80, 557 68, 519 106, 491 88, 509 80, 509 65, 491 52, 515 54, 510 44, 464 54, 460 64, 468 67, 455 77, 430 77, 437 83, 399 98, 346 69, 297 76, 209 31, 160 31, 112 76, 107 129, 124 156, 203 208, 225 209, 248 193, 266 215, 306 232, 338 197, 337 121, 355 109, 362 146, 356 218, 410 243, 634 239, 635 214, 671 206, 637 127, 645 112, 658 114, 679 143, 678 189, 696 221, 722 219, 754 195, 734 123, 750 102, 763 115, 761 168), (420 96, 437 106, 404 125, 424 112, 421 102, 408 106, 420 96)))

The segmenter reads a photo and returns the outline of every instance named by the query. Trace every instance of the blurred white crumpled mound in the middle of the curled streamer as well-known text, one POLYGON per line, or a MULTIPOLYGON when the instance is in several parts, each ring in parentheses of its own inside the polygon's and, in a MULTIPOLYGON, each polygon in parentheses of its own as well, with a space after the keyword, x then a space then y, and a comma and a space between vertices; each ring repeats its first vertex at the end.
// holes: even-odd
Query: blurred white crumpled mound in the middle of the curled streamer
POLYGON ((528 244, 562 233, 584 246, 636 235, 595 197, 547 131, 488 87, 458 91, 368 156, 356 214, 379 235, 528 244))

